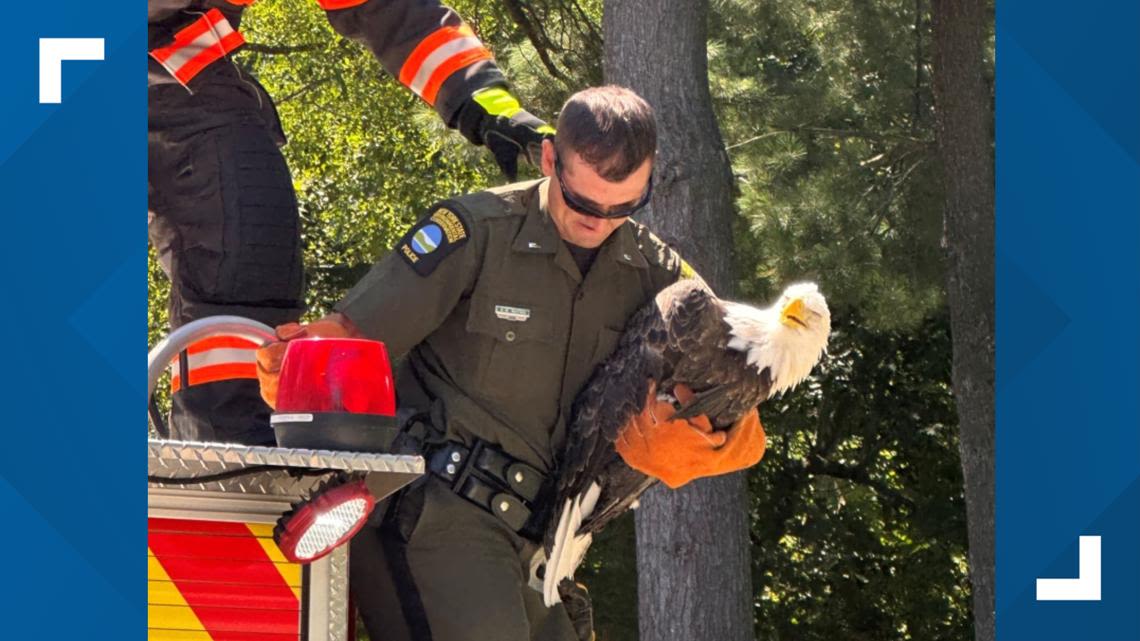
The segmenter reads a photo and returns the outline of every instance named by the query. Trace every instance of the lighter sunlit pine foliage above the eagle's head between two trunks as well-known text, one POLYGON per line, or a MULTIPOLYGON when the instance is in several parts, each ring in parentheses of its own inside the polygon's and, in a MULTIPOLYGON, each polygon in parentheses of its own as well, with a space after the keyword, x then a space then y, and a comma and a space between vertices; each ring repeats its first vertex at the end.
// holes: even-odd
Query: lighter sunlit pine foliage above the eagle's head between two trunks
POLYGON ((913 1, 715 6, 714 99, 756 250, 746 294, 814 278, 833 313, 883 330, 936 313, 942 168, 926 14, 915 32, 913 1))

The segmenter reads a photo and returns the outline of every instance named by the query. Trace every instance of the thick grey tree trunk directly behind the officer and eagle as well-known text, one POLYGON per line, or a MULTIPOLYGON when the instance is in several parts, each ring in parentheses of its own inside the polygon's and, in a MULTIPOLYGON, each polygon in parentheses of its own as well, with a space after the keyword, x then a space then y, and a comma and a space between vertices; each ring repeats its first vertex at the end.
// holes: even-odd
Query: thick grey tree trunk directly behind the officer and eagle
MULTIPOLYGON (((650 209, 638 219, 731 294, 732 173, 708 89, 706 0, 606 0, 606 82, 657 111, 650 209)), ((752 586, 742 473, 656 488, 637 510, 642 641, 750 641, 752 586)))

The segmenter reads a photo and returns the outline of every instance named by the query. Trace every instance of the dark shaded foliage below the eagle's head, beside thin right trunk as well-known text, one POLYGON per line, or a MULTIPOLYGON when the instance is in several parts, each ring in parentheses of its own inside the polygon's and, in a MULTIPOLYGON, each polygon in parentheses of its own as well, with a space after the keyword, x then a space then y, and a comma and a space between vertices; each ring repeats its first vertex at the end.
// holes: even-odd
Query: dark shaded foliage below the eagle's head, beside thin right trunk
POLYGON ((946 324, 878 332, 845 318, 821 375, 763 408, 759 639, 969 639, 946 324))

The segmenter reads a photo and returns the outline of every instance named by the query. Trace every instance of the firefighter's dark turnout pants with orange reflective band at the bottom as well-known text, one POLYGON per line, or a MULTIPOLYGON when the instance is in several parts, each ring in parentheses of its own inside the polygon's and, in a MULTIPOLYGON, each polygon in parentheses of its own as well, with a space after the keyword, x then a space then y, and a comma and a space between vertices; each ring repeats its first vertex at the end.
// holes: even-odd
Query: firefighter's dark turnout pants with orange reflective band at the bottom
MULTIPOLYGON (((300 221, 272 102, 228 60, 189 89, 148 89, 147 227, 171 281, 171 326, 214 315, 296 320, 300 221)), ((176 373, 173 438, 274 443, 252 348, 192 352, 176 373)))

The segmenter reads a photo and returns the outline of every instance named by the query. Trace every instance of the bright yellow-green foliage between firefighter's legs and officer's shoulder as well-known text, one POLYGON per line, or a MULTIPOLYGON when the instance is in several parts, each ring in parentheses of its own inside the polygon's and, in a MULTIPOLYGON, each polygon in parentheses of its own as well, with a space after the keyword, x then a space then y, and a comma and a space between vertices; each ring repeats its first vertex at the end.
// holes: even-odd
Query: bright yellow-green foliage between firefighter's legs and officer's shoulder
POLYGON ((321 315, 434 201, 484 187, 492 172, 311 2, 267 2, 247 16, 253 42, 311 47, 243 59, 277 98, 290 138, 306 302, 321 315))

